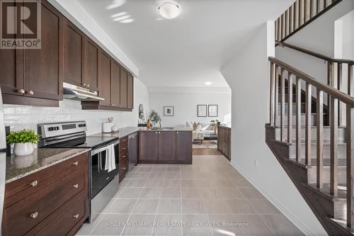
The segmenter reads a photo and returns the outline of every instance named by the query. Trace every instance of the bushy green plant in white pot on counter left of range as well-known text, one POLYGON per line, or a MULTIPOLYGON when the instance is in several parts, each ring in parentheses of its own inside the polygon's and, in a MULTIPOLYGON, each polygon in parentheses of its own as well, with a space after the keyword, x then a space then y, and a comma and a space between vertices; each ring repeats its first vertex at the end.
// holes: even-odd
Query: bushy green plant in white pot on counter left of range
POLYGON ((8 144, 14 144, 13 152, 17 156, 31 154, 34 150, 34 144, 40 140, 40 135, 35 134, 35 130, 12 131, 6 136, 8 144))

